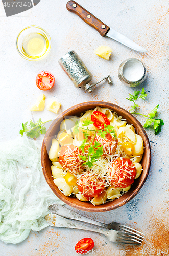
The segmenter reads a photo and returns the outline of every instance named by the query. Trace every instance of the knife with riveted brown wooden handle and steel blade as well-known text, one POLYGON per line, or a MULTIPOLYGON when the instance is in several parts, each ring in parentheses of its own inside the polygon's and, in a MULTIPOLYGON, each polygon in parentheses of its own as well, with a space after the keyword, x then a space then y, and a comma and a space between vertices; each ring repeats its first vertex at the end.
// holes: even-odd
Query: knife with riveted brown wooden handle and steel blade
POLYGON ((82 6, 80 6, 75 1, 67 2, 66 8, 68 11, 74 12, 75 14, 77 14, 89 26, 96 29, 101 34, 101 36, 103 36, 103 37, 108 36, 135 51, 148 52, 146 49, 137 45, 135 42, 128 39, 126 36, 118 33, 114 29, 108 27, 106 24, 101 22, 100 19, 96 18, 94 15, 92 15, 90 12, 85 10, 82 6))

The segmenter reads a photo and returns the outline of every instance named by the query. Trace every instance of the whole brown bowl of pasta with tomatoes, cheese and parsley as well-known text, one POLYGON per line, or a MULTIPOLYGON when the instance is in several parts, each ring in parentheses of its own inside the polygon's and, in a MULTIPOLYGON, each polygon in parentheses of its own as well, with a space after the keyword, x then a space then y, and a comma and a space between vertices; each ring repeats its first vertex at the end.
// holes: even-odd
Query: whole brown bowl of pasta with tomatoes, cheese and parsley
POLYGON ((138 120, 107 102, 86 102, 50 126, 41 151, 43 174, 65 203, 84 211, 124 205, 148 176, 150 143, 138 120))

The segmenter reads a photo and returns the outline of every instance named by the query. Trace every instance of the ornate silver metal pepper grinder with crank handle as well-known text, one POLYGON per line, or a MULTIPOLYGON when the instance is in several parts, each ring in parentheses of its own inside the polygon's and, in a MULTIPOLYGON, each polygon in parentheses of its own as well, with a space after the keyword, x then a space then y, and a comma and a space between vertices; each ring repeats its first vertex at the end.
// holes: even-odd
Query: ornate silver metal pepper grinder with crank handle
POLYGON ((70 51, 66 53, 62 58, 59 59, 58 62, 62 69, 73 81, 76 88, 81 88, 82 86, 84 86, 85 90, 91 93, 93 91, 92 87, 105 79, 108 81, 109 84, 112 84, 110 75, 104 77, 99 82, 90 84, 89 82, 92 79, 92 74, 89 72, 89 70, 75 51, 70 51))

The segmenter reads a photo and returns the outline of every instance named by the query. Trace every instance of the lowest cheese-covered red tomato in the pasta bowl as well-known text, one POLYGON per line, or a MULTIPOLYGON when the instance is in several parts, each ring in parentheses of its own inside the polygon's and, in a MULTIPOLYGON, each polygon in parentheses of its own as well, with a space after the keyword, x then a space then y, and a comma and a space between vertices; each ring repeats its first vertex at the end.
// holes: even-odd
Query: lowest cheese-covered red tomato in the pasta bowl
POLYGON ((104 179, 90 176, 87 172, 82 174, 77 181, 79 191, 87 197, 98 197, 101 195, 105 188, 104 183, 104 179))

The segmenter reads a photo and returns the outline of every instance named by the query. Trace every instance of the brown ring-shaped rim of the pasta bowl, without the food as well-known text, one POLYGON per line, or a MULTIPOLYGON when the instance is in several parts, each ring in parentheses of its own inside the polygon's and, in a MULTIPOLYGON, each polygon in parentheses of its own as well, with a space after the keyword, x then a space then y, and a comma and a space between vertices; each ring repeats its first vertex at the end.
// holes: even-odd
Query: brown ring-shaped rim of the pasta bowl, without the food
MULTIPOLYGON (((78 210, 89 211, 89 212, 103 212, 103 211, 109 211, 109 210, 116 209, 116 208, 118 208, 120 206, 123 206, 124 204, 129 202, 132 198, 134 198, 136 196, 136 194, 138 193, 138 191, 142 188, 143 184, 146 182, 146 179, 148 177, 149 169, 150 169, 150 165, 151 165, 151 147, 150 147, 150 142, 149 142, 149 138, 148 138, 148 136, 146 134, 146 131, 143 129, 141 123, 130 112, 128 112, 127 110, 125 110, 125 109, 121 108, 120 106, 117 106, 117 105, 115 105, 113 103, 104 102, 104 101, 88 101, 88 102, 83 102, 83 103, 79 103, 77 105, 71 106, 69 109, 67 109, 64 112, 62 112, 53 121, 53 123, 50 125, 49 129, 47 130, 47 132, 46 132, 46 134, 44 136, 43 142, 42 142, 42 147, 41 147, 41 165, 42 165, 43 175, 45 177, 45 180, 46 180, 47 184, 53 190, 54 194, 59 199, 61 199, 64 203, 66 203, 66 204, 70 205, 71 207, 76 208, 78 210), (147 150, 148 150, 147 169, 144 170, 143 179, 138 184, 138 186, 134 189, 132 194, 130 194, 127 198, 125 198, 123 201, 121 201, 119 203, 118 203, 118 199, 115 199, 115 200, 117 200, 117 203, 115 205, 107 205, 107 204, 110 203, 110 202, 108 202, 108 203, 101 204, 101 205, 95 205, 94 208, 93 208, 92 204, 88 203, 88 202, 85 202, 85 203, 88 203, 88 204, 86 204, 86 206, 81 206, 81 205, 75 204, 74 202, 71 202, 71 197, 64 196, 63 193, 61 193, 61 191, 57 188, 57 186, 55 184, 51 183, 51 181, 49 179, 49 176, 47 175, 45 160, 43 158, 43 156, 45 154, 45 151, 46 151, 45 139, 50 137, 50 133, 52 132, 52 130, 55 127, 56 123, 58 123, 63 117, 69 116, 71 112, 75 111, 75 109, 76 109, 76 111, 80 110, 82 108, 82 106, 85 106, 86 108, 87 108, 87 106, 89 106, 90 109, 94 109, 94 108, 96 108, 96 106, 100 106, 101 108, 112 109, 114 112, 116 112, 116 111, 117 112, 123 112, 125 115, 130 117, 131 120, 134 120, 134 122, 133 121, 132 122, 135 123, 139 127, 139 129, 141 129, 142 132, 143 132, 142 134, 143 134, 144 146, 146 146, 147 150)), ((112 201, 112 202, 114 202, 114 201, 112 201)))

